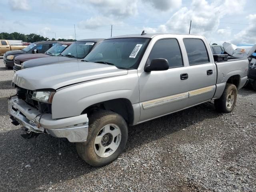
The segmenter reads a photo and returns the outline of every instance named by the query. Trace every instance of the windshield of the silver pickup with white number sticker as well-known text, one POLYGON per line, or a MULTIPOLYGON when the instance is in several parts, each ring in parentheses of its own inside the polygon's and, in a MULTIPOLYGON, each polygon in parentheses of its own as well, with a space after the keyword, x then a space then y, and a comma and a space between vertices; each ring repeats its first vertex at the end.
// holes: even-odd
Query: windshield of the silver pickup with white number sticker
POLYGON ((148 38, 119 38, 104 40, 84 60, 112 64, 119 68, 138 68, 148 38))

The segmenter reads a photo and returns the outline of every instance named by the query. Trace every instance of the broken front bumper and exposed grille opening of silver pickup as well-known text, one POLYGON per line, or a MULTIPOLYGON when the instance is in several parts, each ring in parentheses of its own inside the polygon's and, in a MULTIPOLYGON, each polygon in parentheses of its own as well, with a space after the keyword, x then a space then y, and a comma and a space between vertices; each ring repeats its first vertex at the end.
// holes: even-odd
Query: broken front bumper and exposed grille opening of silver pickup
POLYGON ((61 119, 52 119, 51 104, 32 98, 33 91, 18 88, 15 96, 8 98, 8 112, 12 124, 22 125, 26 134, 23 138, 36 144, 39 134, 50 134, 58 138, 67 138, 70 142, 84 142, 88 135, 87 114, 61 119))

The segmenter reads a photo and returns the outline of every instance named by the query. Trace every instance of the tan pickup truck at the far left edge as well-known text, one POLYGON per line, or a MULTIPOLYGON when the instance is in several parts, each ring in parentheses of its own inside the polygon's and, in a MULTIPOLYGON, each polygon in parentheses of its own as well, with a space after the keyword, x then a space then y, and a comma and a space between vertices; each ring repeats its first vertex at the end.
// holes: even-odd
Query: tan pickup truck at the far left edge
POLYGON ((11 50, 22 50, 26 47, 20 40, 0 40, 0 54, 11 50))

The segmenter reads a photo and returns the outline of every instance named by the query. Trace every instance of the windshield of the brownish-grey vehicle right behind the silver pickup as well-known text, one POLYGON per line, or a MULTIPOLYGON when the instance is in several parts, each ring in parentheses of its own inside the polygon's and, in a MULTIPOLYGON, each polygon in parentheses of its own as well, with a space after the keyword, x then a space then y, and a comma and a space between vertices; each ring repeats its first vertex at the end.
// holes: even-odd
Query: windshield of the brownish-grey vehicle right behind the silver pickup
POLYGON ((88 41, 76 41, 72 43, 66 50, 64 50, 61 55, 72 58, 84 58, 96 44, 95 42, 88 41))

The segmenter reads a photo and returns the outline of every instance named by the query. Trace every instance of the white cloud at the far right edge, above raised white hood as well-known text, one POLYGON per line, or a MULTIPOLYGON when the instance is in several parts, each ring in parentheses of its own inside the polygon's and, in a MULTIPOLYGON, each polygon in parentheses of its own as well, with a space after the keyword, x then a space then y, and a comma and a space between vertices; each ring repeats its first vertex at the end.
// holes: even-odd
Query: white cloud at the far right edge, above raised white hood
POLYGON ((244 30, 234 35, 234 39, 231 40, 234 44, 250 43, 256 44, 256 14, 250 14, 246 17, 249 24, 244 30))

